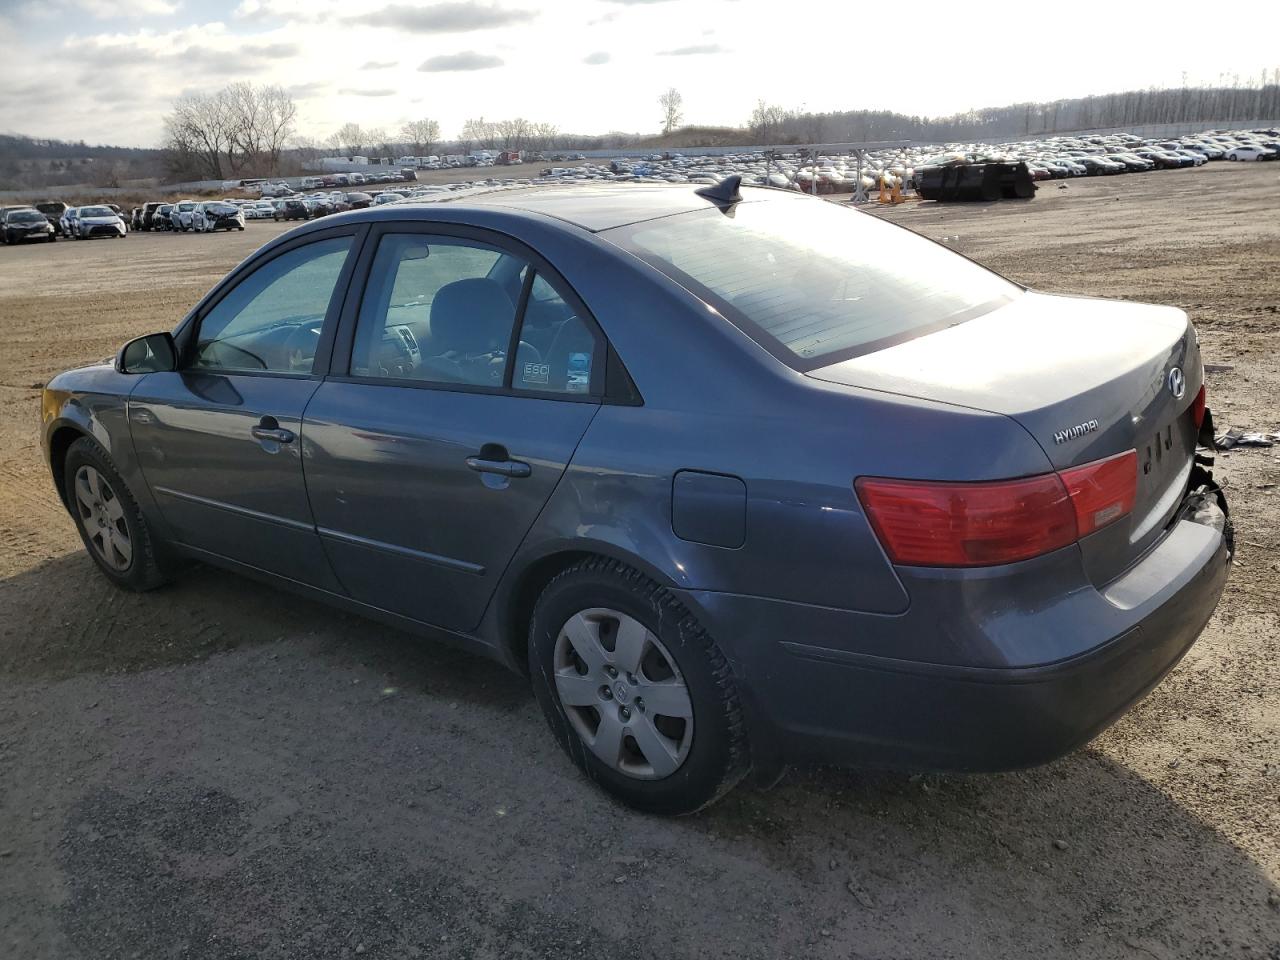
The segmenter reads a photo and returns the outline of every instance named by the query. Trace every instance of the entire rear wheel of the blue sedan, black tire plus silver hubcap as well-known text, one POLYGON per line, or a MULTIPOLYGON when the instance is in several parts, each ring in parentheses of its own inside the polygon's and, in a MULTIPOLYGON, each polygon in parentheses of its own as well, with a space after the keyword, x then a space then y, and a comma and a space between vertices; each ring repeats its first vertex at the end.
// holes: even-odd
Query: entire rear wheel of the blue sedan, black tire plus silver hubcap
POLYGON ((529 668, 561 748, 627 806, 694 813, 749 769, 742 705, 728 662, 671 593, 631 567, 596 557, 556 576, 534 607, 529 668), (643 652, 639 659, 618 649, 623 636, 631 637, 625 643, 632 652, 643 652), (611 637, 613 650, 607 649, 611 637), (628 671, 630 664, 639 666, 628 671), (673 713, 653 709, 646 695, 653 703, 660 696, 673 713), (577 703, 566 707, 566 696, 577 703), (677 719, 684 712, 690 716, 677 719))

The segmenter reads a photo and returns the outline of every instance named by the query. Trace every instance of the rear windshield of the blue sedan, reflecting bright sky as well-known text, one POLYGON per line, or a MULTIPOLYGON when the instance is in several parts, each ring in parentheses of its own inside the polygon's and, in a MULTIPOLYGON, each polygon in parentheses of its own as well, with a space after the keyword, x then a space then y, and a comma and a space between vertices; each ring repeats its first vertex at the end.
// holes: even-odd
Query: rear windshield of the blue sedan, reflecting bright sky
POLYGON ((819 200, 709 207, 603 236, 797 370, 951 326, 1021 292, 910 230, 819 200))

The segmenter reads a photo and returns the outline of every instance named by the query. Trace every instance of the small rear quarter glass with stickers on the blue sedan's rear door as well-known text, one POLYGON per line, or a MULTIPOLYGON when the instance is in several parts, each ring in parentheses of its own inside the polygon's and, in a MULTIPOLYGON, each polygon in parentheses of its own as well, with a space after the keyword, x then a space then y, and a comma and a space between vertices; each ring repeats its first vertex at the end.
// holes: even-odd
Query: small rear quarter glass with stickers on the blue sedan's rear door
POLYGON ((534 275, 511 385, 543 393, 590 393, 595 335, 541 274, 534 275))

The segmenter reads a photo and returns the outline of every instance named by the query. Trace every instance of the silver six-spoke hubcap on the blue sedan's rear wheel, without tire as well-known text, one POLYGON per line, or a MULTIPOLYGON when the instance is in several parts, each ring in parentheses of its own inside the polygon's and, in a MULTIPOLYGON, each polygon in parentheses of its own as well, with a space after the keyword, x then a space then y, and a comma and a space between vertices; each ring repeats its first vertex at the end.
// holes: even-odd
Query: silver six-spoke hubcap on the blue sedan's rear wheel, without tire
POLYGON ((694 741, 694 705, 675 658, 639 620, 594 607, 556 639, 556 692, 573 731, 612 769, 669 777, 694 741))

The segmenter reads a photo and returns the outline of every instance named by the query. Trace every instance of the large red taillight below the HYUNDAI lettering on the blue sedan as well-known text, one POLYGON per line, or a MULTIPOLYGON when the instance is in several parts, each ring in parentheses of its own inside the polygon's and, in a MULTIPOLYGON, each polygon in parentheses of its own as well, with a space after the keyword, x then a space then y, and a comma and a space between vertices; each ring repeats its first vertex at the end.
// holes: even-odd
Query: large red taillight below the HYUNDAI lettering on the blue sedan
POLYGON ((1137 497, 1138 454, 1019 480, 864 476, 855 488, 893 563, 988 567, 1039 557, 1126 516, 1137 497))

